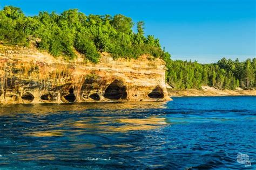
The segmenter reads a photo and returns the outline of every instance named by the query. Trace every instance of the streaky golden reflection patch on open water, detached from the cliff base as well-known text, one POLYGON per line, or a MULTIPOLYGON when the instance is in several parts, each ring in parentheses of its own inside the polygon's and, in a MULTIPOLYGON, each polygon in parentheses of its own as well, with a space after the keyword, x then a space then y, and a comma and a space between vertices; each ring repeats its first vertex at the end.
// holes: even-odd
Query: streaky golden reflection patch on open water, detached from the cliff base
MULTIPOLYGON (((60 124, 51 126, 51 129, 69 129, 68 133, 83 134, 84 132, 92 133, 114 133, 114 132, 128 132, 139 130, 152 130, 166 125, 165 118, 159 116, 149 116, 144 119, 136 118, 121 118, 115 119, 113 117, 94 117, 86 118, 80 121, 64 121, 60 124)), ((23 133, 24 136, 33 137, 52 137, 66 135, 64 130, 44 130, 30 129, 28 133, 23 133)))

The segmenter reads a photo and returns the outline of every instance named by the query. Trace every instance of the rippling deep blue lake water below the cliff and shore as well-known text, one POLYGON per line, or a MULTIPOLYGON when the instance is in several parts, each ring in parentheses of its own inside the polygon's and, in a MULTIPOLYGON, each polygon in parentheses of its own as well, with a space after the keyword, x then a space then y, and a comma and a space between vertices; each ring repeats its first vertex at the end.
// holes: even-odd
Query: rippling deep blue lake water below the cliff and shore
POLYGON ((0 105, 0 134, 0 169, 255 169, 256 97, 0 105))

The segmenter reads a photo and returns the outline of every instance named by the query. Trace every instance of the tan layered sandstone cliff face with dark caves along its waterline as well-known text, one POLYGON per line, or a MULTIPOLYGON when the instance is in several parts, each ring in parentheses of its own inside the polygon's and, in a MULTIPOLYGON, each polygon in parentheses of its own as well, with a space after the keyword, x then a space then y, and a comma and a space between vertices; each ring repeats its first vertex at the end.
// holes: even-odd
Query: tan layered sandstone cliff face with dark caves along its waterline
POLYGON ((165 63, 102 54, 97 64, 68 62, 37 49, 0 45, 0 103, 70 103, 171 100, 165 63))

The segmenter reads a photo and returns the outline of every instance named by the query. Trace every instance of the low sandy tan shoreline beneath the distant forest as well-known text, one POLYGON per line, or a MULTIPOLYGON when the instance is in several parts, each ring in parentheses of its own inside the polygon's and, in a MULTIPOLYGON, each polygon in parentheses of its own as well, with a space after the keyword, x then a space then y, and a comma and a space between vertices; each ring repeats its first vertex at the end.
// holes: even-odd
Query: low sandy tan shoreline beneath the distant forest
POLYGON ((256 96, 256 89, 254 90, 219 90, 211 87, 203 87, 203 89, 167 89, 170 97, 182 96, 256 96))

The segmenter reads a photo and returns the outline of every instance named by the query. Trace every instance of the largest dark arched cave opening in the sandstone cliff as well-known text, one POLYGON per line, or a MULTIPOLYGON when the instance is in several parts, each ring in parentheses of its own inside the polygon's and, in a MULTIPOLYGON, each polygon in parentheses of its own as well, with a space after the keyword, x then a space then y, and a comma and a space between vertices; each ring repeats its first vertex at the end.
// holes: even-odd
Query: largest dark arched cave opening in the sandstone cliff
POLYGON ((119 80, 114 80, 105 90, 105 98, 111 100, 125 99, 127 97, 126 88, 119 80))

